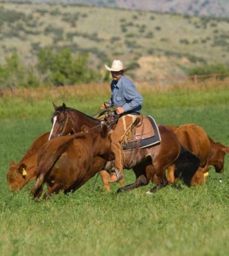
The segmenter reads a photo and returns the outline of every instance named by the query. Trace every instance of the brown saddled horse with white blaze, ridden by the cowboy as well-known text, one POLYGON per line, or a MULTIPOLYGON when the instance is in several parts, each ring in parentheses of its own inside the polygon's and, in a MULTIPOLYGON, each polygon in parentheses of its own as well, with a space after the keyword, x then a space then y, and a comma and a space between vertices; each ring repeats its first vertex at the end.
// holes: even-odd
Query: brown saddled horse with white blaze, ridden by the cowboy
MULTIPOLYGON (((60 107, 54 106, 54 108, 50 138, 79 131, 84 124, 88 127, 94 127, 100 123, 100 121, 81 113, 77 109, 66 108, 65 104, 60 107)), ((117 192, 129 191, 147 185, 154 173, 158 177, 158 184, 150 191, 156 192, 168 184, 165 171, 171 164, 175 164, 175 172, 181 176, 184 183, 187 186, 191 185, 191 178, 195 174, 200 160, 179 143, 177 136, 171 129, 165 125, 158 125, 158 129, 161 135, 161 143, 158 145, 124 151, 124 168, 133 169, 136 181, 119 188, 117 192), (134 157, 133 154, 135 154, 134 157)))

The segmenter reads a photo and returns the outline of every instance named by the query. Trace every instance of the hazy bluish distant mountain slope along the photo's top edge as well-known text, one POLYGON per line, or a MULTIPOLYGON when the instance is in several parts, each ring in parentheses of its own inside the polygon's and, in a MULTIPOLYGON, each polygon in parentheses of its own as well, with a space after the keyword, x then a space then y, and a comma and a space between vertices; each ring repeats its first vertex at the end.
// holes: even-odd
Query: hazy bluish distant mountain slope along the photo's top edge
MULTIPOLYGON (((0 0, 1 1, 1 0, 0 0)), ((31 3, 31 0, 4 0, 4 2, 31 3)), ((36 0, 36 3, 52 3, 53 0, 36 0)), ((203 15, 211 17, 228 17, 229 2, 227 0, 55 0, 63 4, 87 4, 91 6, 107 6, 128 10, 145 10, 154 12, 203 15)))

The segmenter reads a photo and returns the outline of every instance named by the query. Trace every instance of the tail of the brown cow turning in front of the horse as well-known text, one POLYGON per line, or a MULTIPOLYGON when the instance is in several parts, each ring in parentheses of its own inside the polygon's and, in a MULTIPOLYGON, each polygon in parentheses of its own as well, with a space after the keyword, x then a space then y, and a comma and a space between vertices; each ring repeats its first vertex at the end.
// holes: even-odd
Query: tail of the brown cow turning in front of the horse
POLYGON ((55 150, 52 147, 54 139, 48 142, 48 145, 45 148, 44 152, 41 153, 38 169, 36 170, 36 184, 34 185, 30 193, 33 198, 39 198, 41 196, 43 186, 45 184, 45 178, 52 170, 55 162, 59 159, 61 154, 63 154, 66 148, 68 148, 68 145, 70 145, 71 141, 74 138, 75 137, 72 136, 66 136, 66 140, 60 140, 61 143, 59 143, 59 145, 55 144, 55 150))

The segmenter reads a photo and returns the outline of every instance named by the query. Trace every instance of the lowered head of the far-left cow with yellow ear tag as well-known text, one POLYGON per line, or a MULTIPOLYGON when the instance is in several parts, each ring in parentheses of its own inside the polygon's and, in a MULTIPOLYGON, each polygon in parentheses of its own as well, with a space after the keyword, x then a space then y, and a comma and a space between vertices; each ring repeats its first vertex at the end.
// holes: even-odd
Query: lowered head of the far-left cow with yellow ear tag
POLYGON ((7 173, 7 182, 12 191, 22 189, 26 185, 26 168, 26 164, 20 164, 18 166, 14 161, 11 161, 10 169, 7 173))

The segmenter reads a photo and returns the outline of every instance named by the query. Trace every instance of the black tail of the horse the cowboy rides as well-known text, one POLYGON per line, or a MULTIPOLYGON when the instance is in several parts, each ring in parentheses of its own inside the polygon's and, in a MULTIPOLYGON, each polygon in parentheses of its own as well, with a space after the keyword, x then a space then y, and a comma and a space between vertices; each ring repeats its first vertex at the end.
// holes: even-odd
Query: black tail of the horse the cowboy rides
POLYGON ((174 164, 175 177, 180 177, 187 186, 191 186, 191 179, 200 166, 199 157, 181 145, 181 152, 174 164))

